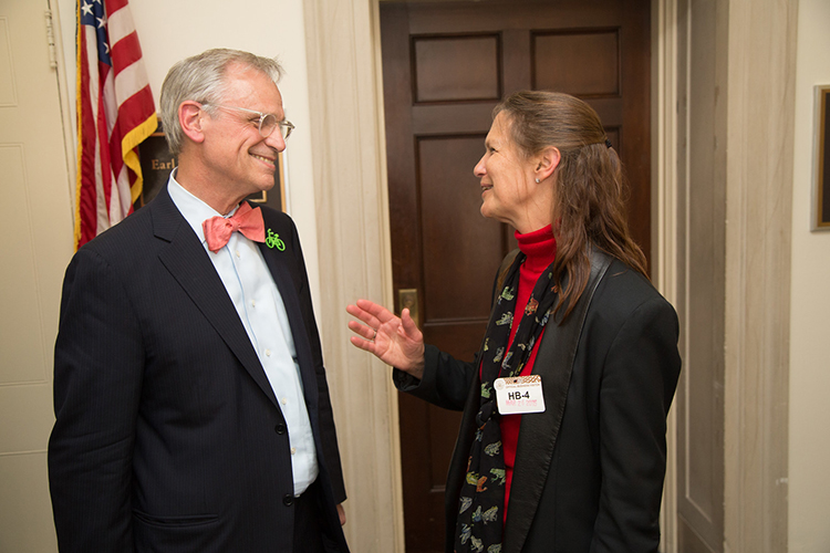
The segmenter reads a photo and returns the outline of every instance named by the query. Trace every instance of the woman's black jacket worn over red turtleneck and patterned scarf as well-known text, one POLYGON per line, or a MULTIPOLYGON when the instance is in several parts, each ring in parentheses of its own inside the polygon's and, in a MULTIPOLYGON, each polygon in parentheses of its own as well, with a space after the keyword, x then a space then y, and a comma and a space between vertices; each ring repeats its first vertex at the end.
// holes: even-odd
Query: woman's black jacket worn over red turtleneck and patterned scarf
MULTIPOLYGON (((533 364, 546 411, 522 416, 502 551, 656 552, 665 419, 681 369, 677 316, 642 275, 614 260, 572 344, 562 328, 546 327, 533 364), (572 359, 570 375, 562 358, 572 359)), ((423 380, 396 371, 395 382, 465 411, 447 477, 452 552, 478 410, 478 363, 434 347, 425 361, 423 380)))

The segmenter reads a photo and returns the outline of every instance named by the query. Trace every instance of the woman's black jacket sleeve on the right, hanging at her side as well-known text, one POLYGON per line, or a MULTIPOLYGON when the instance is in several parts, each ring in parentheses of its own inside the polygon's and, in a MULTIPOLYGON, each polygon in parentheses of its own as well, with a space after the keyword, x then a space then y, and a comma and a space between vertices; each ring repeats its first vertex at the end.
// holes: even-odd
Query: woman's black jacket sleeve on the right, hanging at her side
POLYGON ((611 343, 600 386, 602 486, 592 553, 657 551, 677 335, 677 316, 658 298, 640 305, 611 343))

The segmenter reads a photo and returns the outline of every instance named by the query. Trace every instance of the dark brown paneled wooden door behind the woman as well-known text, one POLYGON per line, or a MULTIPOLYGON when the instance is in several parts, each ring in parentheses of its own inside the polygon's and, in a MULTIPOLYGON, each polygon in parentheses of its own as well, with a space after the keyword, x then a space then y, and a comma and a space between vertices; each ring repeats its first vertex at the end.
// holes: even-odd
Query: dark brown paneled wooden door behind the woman
MULTIPOLYGON (((473 167, 495 104, 522 88, 588 101, 627 166, 630 223, 650 251, 650 1, 382 2, 396 310, 471 359, 513 229, 479 212, 473 167), (406 298, 402 291, 414 291, 406 298)), ((406 551, 443 551, 444 482, 460 415, 400 398, 406 551)))

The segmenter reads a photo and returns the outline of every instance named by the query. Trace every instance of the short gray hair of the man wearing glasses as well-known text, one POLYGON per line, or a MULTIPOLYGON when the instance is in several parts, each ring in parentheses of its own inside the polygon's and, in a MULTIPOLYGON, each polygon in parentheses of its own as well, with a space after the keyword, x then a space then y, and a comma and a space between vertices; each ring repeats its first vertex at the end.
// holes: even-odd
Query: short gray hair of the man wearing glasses
POLYGON ((282 76, 282 66, 276 59, 217 48, 177 62, 162 85, 160 117, 167 146, 174 156, 181 153, 184 133, 178 122, 178 107, 191 100, 200 104, 221 104, 225 93, 225 71, 240 64, 268 75, 274 84, 282 76))

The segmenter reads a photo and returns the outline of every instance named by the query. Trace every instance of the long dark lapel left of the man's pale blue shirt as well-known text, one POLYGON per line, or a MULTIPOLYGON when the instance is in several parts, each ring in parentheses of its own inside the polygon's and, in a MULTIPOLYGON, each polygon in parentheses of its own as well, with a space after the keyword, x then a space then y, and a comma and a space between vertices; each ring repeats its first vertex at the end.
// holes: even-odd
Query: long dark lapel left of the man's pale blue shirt
POLYGON ((262 392, 279 407, 234 302, 230 301, 204 247, 167 194, 166 187, 146 209, 151 209, 156 238, 168 242, 159 250, 158 259, 216 328, 262 392))

